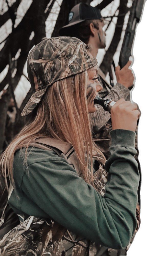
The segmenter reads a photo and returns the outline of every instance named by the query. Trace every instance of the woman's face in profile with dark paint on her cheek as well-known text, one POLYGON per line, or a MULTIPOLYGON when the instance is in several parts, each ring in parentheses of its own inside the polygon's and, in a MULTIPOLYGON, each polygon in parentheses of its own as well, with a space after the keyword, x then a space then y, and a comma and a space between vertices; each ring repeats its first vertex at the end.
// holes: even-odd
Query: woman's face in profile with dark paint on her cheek
POLYGON ((98 81, 98 67, 95 66, 87 70, 88 72, 88 84, 87 84, 87 105, 89 113, 94 113, 97 106, 94 105, 94 99, 98 95, 98 92, 103 89, 98 81))

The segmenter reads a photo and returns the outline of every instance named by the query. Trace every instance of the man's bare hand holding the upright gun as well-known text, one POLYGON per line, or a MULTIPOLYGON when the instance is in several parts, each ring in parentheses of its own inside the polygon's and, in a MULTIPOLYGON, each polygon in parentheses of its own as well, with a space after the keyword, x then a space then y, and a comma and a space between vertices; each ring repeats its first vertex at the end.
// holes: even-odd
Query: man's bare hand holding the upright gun
POLYGON ((117 82, 123 84, 126 88, 131 87, 134 81, 132 70, 129 69, 130 65, 131 61, 128 61, 122 69, 120 69, 120 66, 115 68, 117 82))

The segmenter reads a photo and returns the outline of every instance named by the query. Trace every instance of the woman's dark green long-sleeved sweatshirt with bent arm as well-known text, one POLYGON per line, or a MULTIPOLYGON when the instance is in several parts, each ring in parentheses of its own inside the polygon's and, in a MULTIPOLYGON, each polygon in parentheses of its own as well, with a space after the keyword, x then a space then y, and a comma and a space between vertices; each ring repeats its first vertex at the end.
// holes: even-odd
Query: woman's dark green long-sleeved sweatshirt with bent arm
POLYGON ((23 154, 15 154, 16 190, 9 205, 25 218, 51 217, 91 241, 109 248, 125 248, 137 225, 139 172, 134 159, 135 133, 113 130, 111 137, 104 197, 55 152, 29 148, 28 168, 23 154))

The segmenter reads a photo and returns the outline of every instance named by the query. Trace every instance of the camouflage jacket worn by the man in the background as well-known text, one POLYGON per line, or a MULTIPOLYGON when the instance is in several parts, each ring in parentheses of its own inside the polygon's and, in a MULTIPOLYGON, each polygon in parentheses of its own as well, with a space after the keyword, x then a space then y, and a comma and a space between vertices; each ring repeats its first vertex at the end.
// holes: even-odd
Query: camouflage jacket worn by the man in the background
MULTIPOLYGON (((101 71, 99 74, 101 75, 101 71)), ((114 87, 111 87, 102 77, 100 77, 99 82, 103 86, 103 90, 99 92, 99 96, 101 98, 111 99, 113 101, 118 101, 119 99, 123 98, 130 101, 130 90, 122 84, 117 83, 114 87)), ((111 146, 110 131, 112 130, 110 113, 105 111, 100 105, 97 105, 96 112, 90 114, 90 120, 92 124, 94 141, 100 151, 103 152, 106 159, 108 159, 110 157, 109 148, 111 146)), ((135 149, 137 150, 135 159, 138 161, 137 130, 138 126, 135 131, 135 149)))

